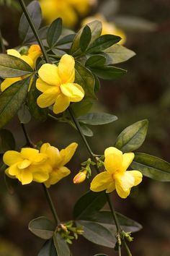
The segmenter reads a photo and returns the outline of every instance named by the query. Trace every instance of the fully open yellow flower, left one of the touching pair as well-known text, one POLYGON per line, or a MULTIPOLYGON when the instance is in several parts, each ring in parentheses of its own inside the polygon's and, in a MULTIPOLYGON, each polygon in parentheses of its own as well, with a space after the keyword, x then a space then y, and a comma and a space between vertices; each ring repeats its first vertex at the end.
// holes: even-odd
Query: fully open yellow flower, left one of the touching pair
POLYGON ((3 161, 9 166, 5 173, 11 178, 19 179, 22 185, 34 182, 45 182, 51 171, 47 155, 34 148, 22 148, 21 152, 9 150, 4 153, 3 161))

